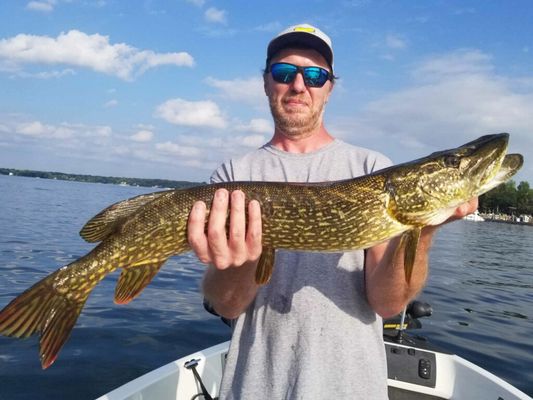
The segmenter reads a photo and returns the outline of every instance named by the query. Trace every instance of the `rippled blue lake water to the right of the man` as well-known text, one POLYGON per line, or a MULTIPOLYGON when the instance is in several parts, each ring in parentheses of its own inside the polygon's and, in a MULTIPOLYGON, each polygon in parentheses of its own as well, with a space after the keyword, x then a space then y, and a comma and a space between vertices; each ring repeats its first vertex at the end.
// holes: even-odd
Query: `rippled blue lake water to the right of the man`
POLYGON ((446 225, 430 265, 421 333, 533 396, 533 227, 446 225))

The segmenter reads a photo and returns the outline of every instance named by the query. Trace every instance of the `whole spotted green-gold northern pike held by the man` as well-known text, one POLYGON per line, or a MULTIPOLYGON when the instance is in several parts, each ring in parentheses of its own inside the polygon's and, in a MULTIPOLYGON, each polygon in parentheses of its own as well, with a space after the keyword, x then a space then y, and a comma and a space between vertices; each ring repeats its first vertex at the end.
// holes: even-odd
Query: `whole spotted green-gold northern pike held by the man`
POLYGON ((24 338, 39 332, 40 360, 49 367, 68 339, 93 288, 122 268, 115 302, 135 298, 172 255, 190 250, 192 205, 208 209, 219 188, 242 190, 261 205, 263 252, 256 281, 270 279, 275 250, 336 252, 366 249, 403 234, 405 278, 410 279, 420 231, 447 220, 456 207, 509 179, 522 166, 506 154, 509 135, 482 136, 455 149, 335 182, 230 182, 145 194, 93 217, 80 235, 100 242, 59 268, 0 311, 0 333, 24 338))

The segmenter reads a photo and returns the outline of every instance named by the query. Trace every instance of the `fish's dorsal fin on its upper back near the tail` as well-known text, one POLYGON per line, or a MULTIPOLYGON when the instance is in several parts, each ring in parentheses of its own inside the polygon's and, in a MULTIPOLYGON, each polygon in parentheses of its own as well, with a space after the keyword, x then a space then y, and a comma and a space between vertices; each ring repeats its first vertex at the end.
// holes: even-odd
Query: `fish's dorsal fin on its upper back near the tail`
POLYGON ((87 242, 99 242, 115 232, 122 223, 140 207, 169 193, 169 191, 142 194, 115 203, 100 211, 81 229, 80 236, 87 242))

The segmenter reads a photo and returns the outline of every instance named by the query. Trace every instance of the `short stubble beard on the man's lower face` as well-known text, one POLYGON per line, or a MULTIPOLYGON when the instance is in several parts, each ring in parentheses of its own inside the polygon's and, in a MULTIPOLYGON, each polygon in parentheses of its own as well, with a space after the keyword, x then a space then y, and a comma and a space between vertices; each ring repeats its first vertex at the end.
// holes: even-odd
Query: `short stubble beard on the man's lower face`
POLYGON ((307 108, 305 112, 287 111, 283 104, 283 99, 277 101, 269 98, 270 112, 276 128, 286 137, 292 139, 308 137, 318 130, 322 121, 324 104, 307 108))

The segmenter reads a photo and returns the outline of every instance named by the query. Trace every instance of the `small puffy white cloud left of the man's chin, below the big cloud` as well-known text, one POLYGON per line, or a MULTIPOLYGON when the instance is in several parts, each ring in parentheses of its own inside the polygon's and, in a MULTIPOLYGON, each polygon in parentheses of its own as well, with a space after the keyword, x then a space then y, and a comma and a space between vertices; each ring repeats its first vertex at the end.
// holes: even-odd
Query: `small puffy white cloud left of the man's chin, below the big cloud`
POLYGON ((175 125, 210 128, 224 128, 227 125, 218 105, 210 100, 167 100, 156 108, 155 116, 175 125))

